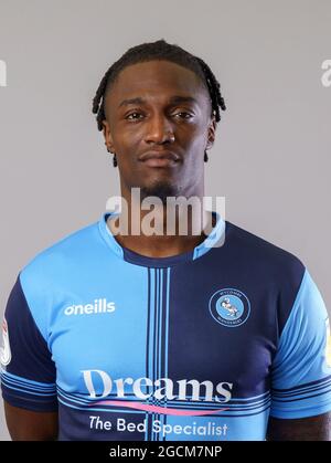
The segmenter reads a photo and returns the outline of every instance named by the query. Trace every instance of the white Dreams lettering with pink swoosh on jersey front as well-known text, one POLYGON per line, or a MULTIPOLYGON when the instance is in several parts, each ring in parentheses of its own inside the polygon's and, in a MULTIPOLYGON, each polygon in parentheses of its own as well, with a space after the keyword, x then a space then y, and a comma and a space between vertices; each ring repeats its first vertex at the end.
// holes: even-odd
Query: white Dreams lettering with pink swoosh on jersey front
POLYGON ((204 415, 224 411, 226 409, 205 409, 202 410, 185 410, 174 409, 167 407, 157 407, 148 403, 141 403, 141 400, 156 399, 156 400, 179 400, 186 402, 216 402, 226 403, 232 398, 232 382, 218 382, 216 386, 212 381, 199 382, 196 379, 181 379, 179 381, 172 381, 170 378, 159 378, 152 381, 150 378, 119 378, 113 380, 110 376, 103 370, 82 370, 85 386, 88 390, 90 399, 104 399, 111 394, 116 400, 102 400, 93 402, 92 406, 117 406, 128 407, 136 410, 153 411, 163 414, 177 414, 177 415, 204 415), (97 385, 97 386, 96 386, 97 385), (126 387, 129 386, 128 387, 126 387), (100 393, 102 386, 102 393, 100 393), (147 393, 147 390, 151 389, 153 392, 147 393), (97 391, 96 391, 97 389, 97 391), (129 393, 130 400, 118 400, 126 399, 126 391, 129 393), (129 390, 128 390, 129 389, 129 390), (132 394, 136 400, 132 400, 132 394), (115 396, 115 397, 114 397, 115 396))

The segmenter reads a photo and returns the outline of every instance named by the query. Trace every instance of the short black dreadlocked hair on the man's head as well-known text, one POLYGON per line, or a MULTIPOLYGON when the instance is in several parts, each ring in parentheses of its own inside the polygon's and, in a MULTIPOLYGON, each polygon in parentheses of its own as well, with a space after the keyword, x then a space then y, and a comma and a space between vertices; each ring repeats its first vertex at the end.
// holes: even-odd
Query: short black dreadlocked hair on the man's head
MULTIPOLYGON (((105 97, 111 84, 118 77, 118 74, 128 65, 142 63, 153 60, 166 60, 184 66, 193 71, 206 87, 211 98, 212 115, 216 123, 221 120, 222 111, 226 109, 224 98, 221 95, 220 83, 214 76, 210 66, 197 56, 192 55, 182 48, 169 44, 163 39, 156 42, 142 43, 140 45, 129 49, 118 61, 116 61, 104 75, 98 90, 93 98, 93 113, 96 114, 98 130, 103 130, 103 120, 105 115, 105 97)), ((207 159, 205 152, 205 160, 207 159)), ((114 166, 116 167, 116 158, 114 158, 114 166)))

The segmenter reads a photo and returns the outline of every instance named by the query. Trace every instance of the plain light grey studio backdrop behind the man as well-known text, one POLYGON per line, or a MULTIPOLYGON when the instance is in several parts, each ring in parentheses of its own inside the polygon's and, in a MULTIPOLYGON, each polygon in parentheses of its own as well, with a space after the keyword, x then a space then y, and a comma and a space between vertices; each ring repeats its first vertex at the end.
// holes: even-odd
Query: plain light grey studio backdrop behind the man
POLYGON ((92 98, 128 48, 160 38, 210 64, 228 107, 205 193, 299 256, 330 309, 330 0, 1 0, 0 315, 20 269, 119 193, 92 98))

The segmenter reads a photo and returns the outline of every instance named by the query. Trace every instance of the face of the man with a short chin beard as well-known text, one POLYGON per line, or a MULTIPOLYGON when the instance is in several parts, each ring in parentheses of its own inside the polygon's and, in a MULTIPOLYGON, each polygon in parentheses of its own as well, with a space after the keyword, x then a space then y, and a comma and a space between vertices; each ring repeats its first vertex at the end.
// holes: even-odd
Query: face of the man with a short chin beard
POLYGON ((207 90, 183 66, 149 61, 124 69, 107 92, 104 122, 122 192, 139 187, 141 198, 162 199, 201 192, 204 150, 215 137, 211 111, 207 90))

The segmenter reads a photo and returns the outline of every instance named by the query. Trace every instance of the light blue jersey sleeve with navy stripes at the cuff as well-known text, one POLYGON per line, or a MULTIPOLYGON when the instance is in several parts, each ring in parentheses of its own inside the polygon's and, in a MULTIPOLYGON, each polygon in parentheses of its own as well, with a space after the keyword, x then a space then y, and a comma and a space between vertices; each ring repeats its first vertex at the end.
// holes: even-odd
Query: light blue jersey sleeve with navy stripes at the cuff
POLYGON ((307 418, 330 410, 329 317, 322 296, 306 269, 273 361, 270 415, 307 418))

